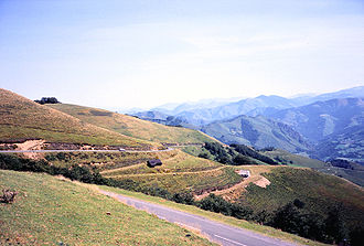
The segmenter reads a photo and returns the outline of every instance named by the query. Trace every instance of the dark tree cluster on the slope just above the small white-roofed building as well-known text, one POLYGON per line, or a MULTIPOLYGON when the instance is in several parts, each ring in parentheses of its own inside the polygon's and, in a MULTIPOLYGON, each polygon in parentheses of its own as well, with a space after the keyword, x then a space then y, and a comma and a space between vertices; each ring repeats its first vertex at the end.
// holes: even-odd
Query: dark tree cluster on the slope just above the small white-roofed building
POLYGON ((205 142, 204 149, 210 154, 203 152, 199 157, 212 159, 223 164, 256 164, 254 159, 266 162, 268 164, 278 164, 277 161, 271 158, 255 151, 254 149, 244 145, 231 145, 231 147, 224 147, 218 142, 205 142))

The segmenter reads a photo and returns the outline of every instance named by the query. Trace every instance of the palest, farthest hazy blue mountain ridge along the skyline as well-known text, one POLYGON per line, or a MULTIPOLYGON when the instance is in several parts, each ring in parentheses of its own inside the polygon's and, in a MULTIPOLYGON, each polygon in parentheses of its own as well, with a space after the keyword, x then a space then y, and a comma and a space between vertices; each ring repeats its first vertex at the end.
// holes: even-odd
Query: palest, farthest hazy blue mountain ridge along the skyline
MULTIPOLYGON (((295 98, 285 98, 280 96, 258 96, 228 103, 221 100, 205 100, 196 104, 169 105, 168 107, 157 107, 149 111, 163 113, 168 116, 179 117, 188 124, 204 126, 215 120, 234 118, 240 115, 258 116, 270 115, 280 109, 299 107, 312 104, 318 100, 330 100, 336 98, 363 97, 364 86, 343 89, 334 93, 322 94, 318 96, 300 96, 295 98), (216 106, 217 105, 217 106, 216 106)), ((232 101, 233 100, 233 101, 232 101)), ((138 113, 140 115, 140 113, 138 113)), ((135 114, 135 115, 138 115, 135 114)))

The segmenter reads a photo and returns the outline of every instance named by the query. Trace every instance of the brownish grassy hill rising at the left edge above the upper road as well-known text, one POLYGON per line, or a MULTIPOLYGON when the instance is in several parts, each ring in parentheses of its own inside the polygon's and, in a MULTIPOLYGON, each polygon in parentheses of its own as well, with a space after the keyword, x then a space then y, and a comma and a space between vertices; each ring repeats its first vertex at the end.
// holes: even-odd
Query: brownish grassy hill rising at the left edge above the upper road
POLYGON ((148 147, 137 140, 0 89, 0 140, 40 138, 55 142, 148 147))

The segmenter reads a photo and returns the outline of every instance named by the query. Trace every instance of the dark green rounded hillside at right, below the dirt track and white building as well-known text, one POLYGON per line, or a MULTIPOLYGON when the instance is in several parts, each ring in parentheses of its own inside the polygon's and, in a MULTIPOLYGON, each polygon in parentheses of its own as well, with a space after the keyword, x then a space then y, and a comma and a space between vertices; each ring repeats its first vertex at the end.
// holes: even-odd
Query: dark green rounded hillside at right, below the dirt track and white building
MULTIPOLYGON (((254 168, 251 169, 254 172, 254 168)), ((332 207, 350 227, 364 227, 364 190, 346 180, 310 169, 278 167, 261 173, 270 184, 266 188, 250 183, 240 193, 240 203, 256 212, 272 212, 299 199, 303 210, 323 217, 332 207)))

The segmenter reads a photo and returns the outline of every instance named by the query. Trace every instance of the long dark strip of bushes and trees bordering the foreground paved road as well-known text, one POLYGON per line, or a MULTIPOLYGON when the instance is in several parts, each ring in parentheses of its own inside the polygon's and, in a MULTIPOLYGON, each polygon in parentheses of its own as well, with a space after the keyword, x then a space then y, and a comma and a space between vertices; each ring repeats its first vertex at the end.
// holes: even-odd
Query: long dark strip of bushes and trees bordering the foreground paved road
POLYGON ((350 245, 361 245, 361 243, 364 242, 364 228, 349 229, 345 227, 341 220, 340 206, 331 208, 328 216, 323 217, 319 214, 304 213, 304 203, 296 199, 274 212, 255 212, 249 206, 227 202, 223 197, 214 194, 210 194, 201 201, 195 201, 193 195, 188 192, 172 194, 158 186, 141 186, 132 180, 104 178, 97 171, 93 171, 87 167, 75 164, 71 168, 57 168, 50 165, 45 160, 34 161, 10 154, 0 154, 0 169, 45 172, 52 175, 61 174, 71 180, 78 180, 85 183, 142 192, 148 195, 160 196, 182 204, 195 205, 206 211, 222 213, 236 218, 254 221, 323 243, 340 243, 343 242, 345 237, 349 239, 350 245))

